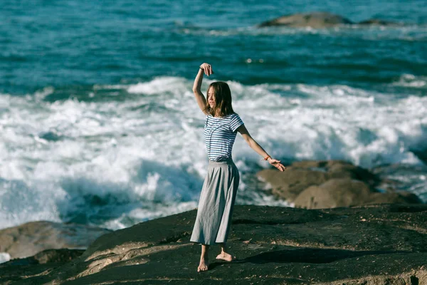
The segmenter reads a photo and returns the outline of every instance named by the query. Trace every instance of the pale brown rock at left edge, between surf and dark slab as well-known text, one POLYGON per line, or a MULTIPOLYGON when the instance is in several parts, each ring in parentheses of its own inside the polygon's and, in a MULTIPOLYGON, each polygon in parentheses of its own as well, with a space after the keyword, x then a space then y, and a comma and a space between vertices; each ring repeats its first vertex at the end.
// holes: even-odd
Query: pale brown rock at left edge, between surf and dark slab
POLYGON ((108 229, 83 224, 28 222, 18 227, 0 229, 0 252, 11 258, 31 257, 45 249, 86 249, 108 229))

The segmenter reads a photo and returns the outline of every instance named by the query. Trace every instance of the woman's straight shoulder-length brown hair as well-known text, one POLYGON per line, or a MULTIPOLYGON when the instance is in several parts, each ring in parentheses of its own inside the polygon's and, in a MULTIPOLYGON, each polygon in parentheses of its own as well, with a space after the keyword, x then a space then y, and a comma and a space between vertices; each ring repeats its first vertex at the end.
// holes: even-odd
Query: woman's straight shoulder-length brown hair
POLYGON ((231 90, 227 83, 223 81, 216 81, 211 83, 206 94, 205 110, 207 113, 215 116, 216 112, 218 111, 220 117, 234 113, 233 107, 231 107, 231 90), (214 108, 211 108, 211 105, 209 105, 208 101, 209 89, 211 88, 213 88, 215 94, 214 108))

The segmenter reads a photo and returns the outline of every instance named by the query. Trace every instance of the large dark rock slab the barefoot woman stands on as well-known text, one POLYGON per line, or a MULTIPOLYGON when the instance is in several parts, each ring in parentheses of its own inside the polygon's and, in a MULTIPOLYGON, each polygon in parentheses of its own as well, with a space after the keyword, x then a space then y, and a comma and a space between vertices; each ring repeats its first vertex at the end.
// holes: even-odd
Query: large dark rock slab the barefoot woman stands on
POLYGON ((216 261, 211 247, 201 273, 200 246, 189 242, 195 217, 193 210, 105 234, 63 266, 15 270, 9 261, 0 284, 427 284, 426 204, 236 206, 228 247, 238 259, 216 261))

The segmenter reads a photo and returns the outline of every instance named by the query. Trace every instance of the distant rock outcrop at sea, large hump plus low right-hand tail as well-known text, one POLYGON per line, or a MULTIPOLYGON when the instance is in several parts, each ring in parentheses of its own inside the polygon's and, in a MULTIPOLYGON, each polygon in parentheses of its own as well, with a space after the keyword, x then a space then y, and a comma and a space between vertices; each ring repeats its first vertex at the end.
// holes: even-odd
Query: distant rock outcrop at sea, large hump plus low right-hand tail
POLYGON ((259 28, 265 26, 289 26, 294 28, 329 28, 332 26, 338 26, 343 24, 358 24, 362 26, 381 25, 381 26, 403 26, 402 24, 385 21, 381 19, 369 19, 354 23, 349 19, 339 16, 337 14, 331 14, 328 12, 311 12, 303 14, 290 14, 280 16, 270 21, 265 21, 258 25, 259 28))

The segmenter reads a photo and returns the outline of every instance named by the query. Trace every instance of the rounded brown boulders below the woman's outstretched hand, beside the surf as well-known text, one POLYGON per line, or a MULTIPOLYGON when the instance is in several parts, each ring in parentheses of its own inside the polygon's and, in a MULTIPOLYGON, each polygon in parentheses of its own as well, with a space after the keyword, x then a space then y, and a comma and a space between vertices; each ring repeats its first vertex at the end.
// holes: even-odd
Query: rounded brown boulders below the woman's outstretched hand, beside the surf
POLYGON ((307 209, 421 203, 416 195, 390 187, 378 192, 379 177, 342 160, 294 162, 285 172, 261 170, 258 177, 270 183, 273 195, 307 209))

